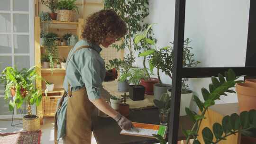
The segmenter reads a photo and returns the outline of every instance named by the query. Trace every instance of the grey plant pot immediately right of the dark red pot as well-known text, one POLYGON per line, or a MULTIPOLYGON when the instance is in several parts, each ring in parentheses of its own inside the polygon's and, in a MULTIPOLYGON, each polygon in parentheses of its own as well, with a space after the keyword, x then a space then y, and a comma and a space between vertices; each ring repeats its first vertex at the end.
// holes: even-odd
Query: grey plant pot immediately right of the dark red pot
POLYGON ((154 97, 159 100, 161 95, 166 93, 168 89, 172 88, 172 85, 165 83, 155 83, 154 84, 154 97))

